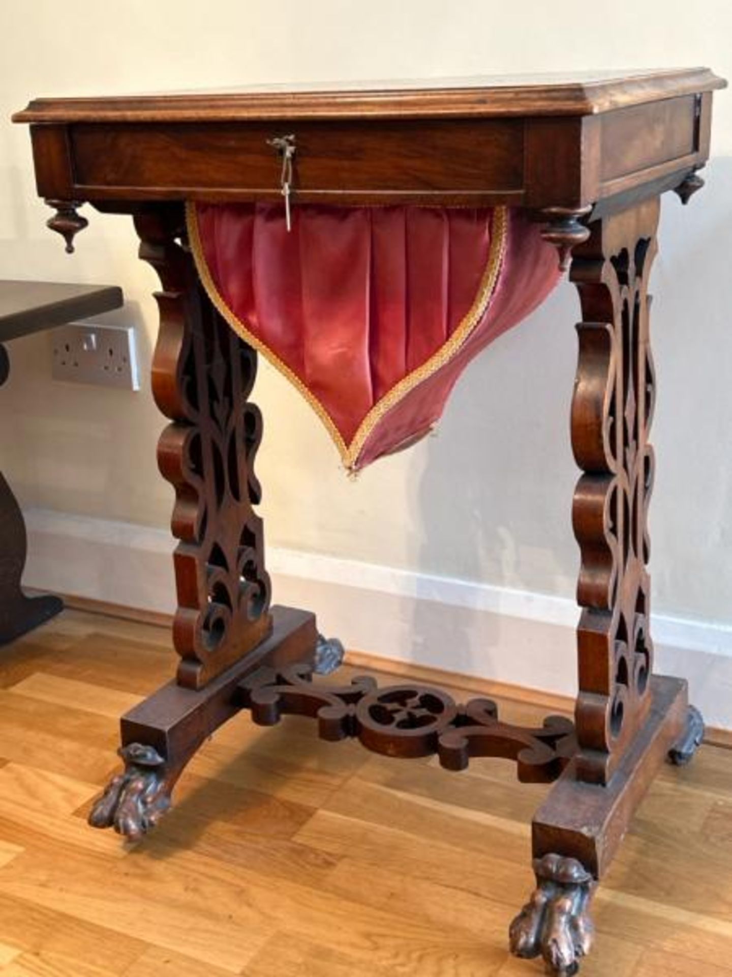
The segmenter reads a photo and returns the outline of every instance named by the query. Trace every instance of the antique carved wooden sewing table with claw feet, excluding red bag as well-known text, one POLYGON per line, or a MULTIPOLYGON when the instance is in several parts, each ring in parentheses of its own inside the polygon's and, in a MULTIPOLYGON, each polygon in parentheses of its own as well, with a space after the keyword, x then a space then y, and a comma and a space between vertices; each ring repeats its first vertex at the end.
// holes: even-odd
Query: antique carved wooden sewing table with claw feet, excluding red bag
POLYGON ((125 771, 91 815, 130 839, 170 805, 183 767, 239 709, 255 721, 318 720, 400 757, 437 753, 517 762, 525 781, 558 779, 533 823, 537 889, 510 929, 518 956, 575 973, 590 947, 589 904, 633 810, 671 756, 691 757, 703 725, 686 683, 653 673, 646 514, 654 402, 647 280, 659 201, 703 181, 712 90, 707 69, 576 78, 477 79, 346 91, 39 99, 30 123, 39 193, 71 250, 83 202, 133 216, 162 291, 153 392, 171 419, 160 440, 176 489, 177 680, 122 719, 125 771), (293 162, 294 168, 287 170, 293 162), (284 166, 283 166, 284 162, 284 166), (337 642, 312 614, 269 606, 260 486, 261 417, 249 403, 256 352, 224 326, 191 255, 184 204, 279 201, 340 207, 518 208, 541 226, 582 306, 571 410, 582 476, 579 694, 574 724, 525 730, 489 701, 456 704, 420 686, 367 680, 319 687, 337 642), (225 392, 225 394, 224 394, 225 392))

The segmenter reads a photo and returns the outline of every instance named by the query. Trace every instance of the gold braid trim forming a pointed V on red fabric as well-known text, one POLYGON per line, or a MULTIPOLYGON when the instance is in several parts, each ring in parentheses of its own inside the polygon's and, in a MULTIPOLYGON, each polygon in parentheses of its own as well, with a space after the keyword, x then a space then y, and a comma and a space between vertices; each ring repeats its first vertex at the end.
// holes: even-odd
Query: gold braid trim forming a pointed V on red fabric
POLYGON ((219 288, 211 276, 211 272, 203 253, 201 235, 198 231, 198 218, 196 214, 196 204, 194 200, 187 200, 185 203, 185 221, 188 228, 188 239, 193 253, 198 276, 203 287, 206 289, 209 298, 214 304, 220 315, 228 322, 234 332, 253 346, 264 359, 269 361, 286 379, 293 384, 312 407, 320 420, 325 425, 328 434, 333 439, 338 448, 341 459, 348 471, 354 471, 357 467, 358 455, 363 446, 368 441, 377 424, 385 414, 409 394, 415 387, 424 383, 433 373, 441 369, 446 363, 451 361, 467 342, 470 334, 480 319, 485 315, 486 309, 496 290, 498 278, 506 255, 506 242, 508 238, 508 209, 506 207, 496 207, 493 212, 493 226, 491 228, 491 241, 488 248, 488 260, 485 270, 480 279, 477 295, 470 306, 467 315, 462 319, 451 336, 440 346, 436 353, 433 353, 421 366, 413 369, 403 377, 394 387, 392 387, 384 397, 377 401, 366 414, 358 426, 358 430, 353 435, 353 440, 349 445, 341 435, 336 425, 333 423, 328 411, 315 395, 307 389, 300 377, 290 369, 287 363, 280 360, 264 342, 256 336, 246 322, 239 319, 226 305, 219 288))

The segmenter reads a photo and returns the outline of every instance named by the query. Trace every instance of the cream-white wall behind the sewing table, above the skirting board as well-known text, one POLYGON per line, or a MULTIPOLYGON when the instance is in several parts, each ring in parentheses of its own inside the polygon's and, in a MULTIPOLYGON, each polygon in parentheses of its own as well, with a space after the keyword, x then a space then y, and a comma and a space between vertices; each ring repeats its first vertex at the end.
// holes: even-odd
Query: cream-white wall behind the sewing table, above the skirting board
MULTIPOLYGON (((266 81, 694 64, 732 76, 728 0, 693 11, 680 0, 617 0, 605 12, 579 0, 5 0, 1 16, 6 120, 37 95, 266 81)), ((707 189, 686 209, 673 195, 664 201, 652 283, 660 386, 653 599, 664 616, 732 626, 732 97, 725 92, 716 96, 712 151, 707 189)), ((69 259, 44 228, 27 132, 0 122, 0 276, 118 282, 128 305, 108 318, 140 326, 144 366, 156 331, 155 277, 136 259, 128 219, 86 210, 90 228, 69 259)), ((577 318, 574 290, 564 284, 468 368, 436 437, 356 482, 309 409, 263 365, 259 472, 268 545, 571 597, 578 554, 567 414, 577 318)), ((166 525, 171 492, 154 460, 162 421, 147 391, 52 382, 43 336, 10 352, 0 465, 21 501, 166 525)), ((419 649, 401 657, 408 654, 419 649)), ((564 654, 570 662, 571 643, 564 654)))

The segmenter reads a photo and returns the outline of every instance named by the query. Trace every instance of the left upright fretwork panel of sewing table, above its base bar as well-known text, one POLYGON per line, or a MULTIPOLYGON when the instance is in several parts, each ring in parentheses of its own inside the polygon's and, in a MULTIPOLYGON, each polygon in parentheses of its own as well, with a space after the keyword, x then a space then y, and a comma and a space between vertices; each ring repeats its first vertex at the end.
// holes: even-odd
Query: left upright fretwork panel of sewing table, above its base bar
POLYGON ((158 445, 176 490, 172 530, 183 659, 178 681, 201 688, 271 629, 261 499, 254 460, 262 415, 248 401, 257 354, 214 309, 185 246, 183 211, 141 213, 141 258, 157 271, 160 334, 152 364, 155 401, 172 423, 158 445))

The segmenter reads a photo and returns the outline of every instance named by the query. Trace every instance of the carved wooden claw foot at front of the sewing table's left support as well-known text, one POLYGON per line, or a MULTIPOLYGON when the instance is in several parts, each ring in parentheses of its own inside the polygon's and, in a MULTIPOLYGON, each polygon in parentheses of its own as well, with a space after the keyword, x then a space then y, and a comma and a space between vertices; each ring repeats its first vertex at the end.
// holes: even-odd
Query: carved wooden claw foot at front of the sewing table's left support
POLYGON ((89 815, 93 828, 114 828, 128 841, 140 841, 170 808, 165 760, 152 746, 130 743, 118 750, 124 772, 112 778, 89 815))

